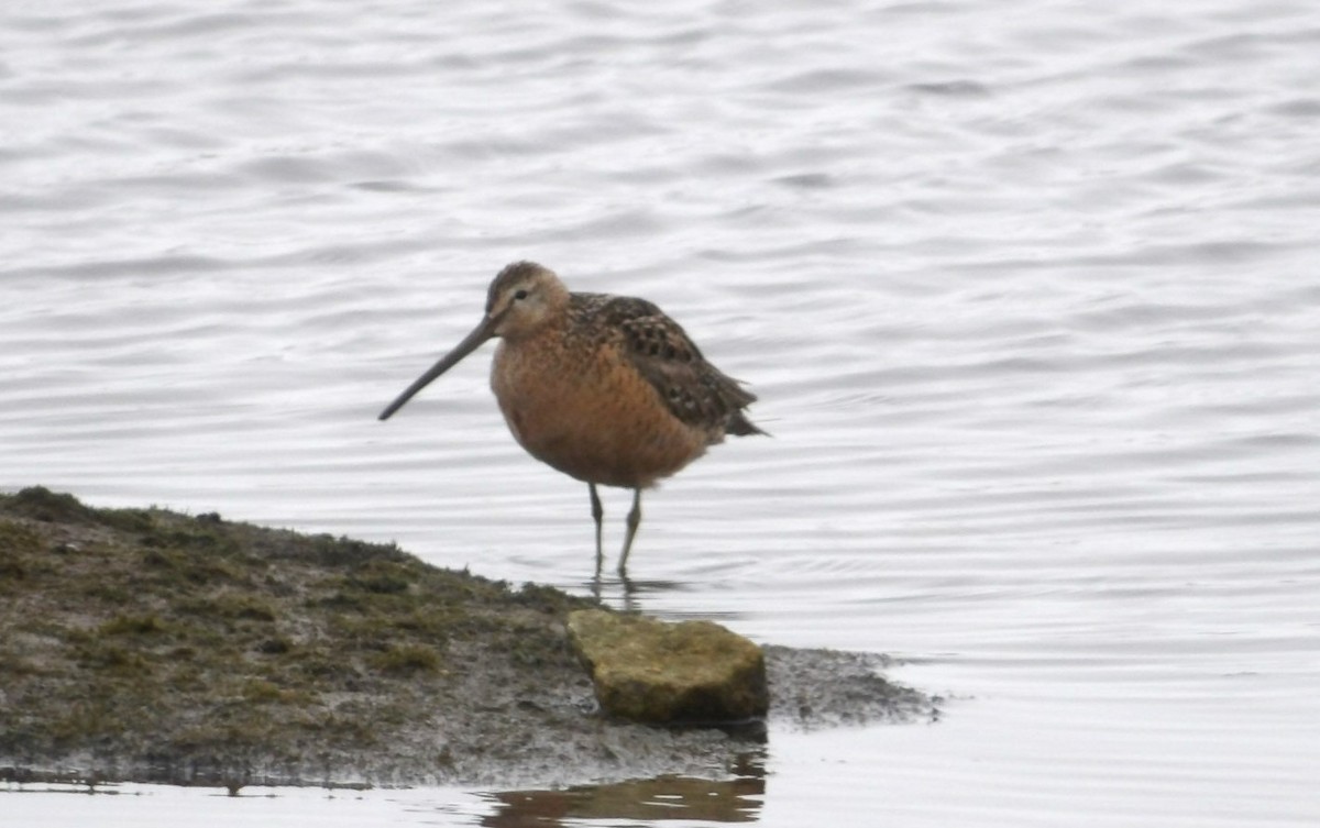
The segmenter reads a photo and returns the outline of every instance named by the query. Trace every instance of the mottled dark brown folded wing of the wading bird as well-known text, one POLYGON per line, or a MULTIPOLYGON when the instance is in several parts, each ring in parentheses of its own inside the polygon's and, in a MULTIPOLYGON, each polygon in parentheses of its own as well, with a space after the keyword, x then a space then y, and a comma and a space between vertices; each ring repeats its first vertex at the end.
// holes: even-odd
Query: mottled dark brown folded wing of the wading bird
POLYGON ((630 297, 574 294, 578 297, 576 310, 602 316, 593 328, 618 332, 623 352, 675 417, 718 434, 764 434, 743 414, 756 396, 708 363, 682 327, 659 307, 630 297))

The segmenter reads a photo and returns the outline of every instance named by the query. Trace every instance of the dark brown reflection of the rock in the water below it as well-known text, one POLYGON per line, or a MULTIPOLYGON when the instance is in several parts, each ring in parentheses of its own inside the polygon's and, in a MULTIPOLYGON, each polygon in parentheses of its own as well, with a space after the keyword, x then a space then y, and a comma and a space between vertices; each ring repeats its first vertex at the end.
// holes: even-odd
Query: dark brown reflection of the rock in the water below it
POLYGON ((572 787, 558 791, 506 791, 488 795, 495 812, 482 820, 492 828, 564 825, 568 820, 622 819, 644 823, 705 820, 752 823, 760 817, 766 777, 756 762, 754 771, 713 782, 689 777, 656 777, 612 784, 572 787))

